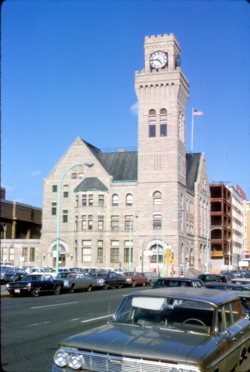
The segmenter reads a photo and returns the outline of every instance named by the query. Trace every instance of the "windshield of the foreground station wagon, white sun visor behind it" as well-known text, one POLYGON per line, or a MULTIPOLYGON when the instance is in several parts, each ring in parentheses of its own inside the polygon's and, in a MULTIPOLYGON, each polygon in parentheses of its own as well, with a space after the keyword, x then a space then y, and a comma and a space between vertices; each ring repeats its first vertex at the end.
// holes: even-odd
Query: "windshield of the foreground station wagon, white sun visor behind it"
POLYGON ((131 296, 124 300, 113 322, 211 333, 214 311, 213 305, 201 301, 175 297, 131 296))

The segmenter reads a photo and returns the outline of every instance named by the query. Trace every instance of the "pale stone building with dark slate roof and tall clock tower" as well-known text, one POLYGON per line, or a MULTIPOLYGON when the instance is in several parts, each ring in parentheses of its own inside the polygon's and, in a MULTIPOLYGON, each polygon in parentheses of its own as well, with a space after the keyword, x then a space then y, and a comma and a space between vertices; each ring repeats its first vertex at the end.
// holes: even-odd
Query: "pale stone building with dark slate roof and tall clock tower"
POLYGON ((144 48, 144 68, 135 73, 138 151, 102 153, 76 138, 44 180, 43 266, 55 266, 60 212, 59 267, 129 267, 131 254, 132 270, 161 273, 170 247, 176 275, 180 264, 205 270, 210 189, 204 153, 186 154, 189 83, 180 46, 170 34, 146 36, 144 48), (94 165, 73 167, 61 180, 87 162, 94 165))

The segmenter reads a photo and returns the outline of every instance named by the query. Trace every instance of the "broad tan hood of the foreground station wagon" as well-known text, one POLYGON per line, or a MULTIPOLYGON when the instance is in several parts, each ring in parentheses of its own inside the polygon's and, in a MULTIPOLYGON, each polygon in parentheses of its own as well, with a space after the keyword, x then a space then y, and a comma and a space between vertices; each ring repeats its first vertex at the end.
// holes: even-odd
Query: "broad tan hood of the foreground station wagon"
POLYGON ((198 362, 207 357, 206 345, 194 357, 192 351, 213 338, 206 334, 145 328, 134 325, 107 324, 63 340, 59 346, 76 347, 125 356, 137 356, 182 362, 198 362))

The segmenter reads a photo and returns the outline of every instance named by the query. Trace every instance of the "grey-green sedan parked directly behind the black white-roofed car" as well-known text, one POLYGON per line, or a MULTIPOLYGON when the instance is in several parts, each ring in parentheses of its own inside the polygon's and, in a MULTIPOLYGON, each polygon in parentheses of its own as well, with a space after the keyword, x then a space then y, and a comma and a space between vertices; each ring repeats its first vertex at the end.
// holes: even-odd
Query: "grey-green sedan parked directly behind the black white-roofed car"
POLYGON ((93 287, 97 286, 98 280, 90 278, 87 273, 68 271, 63 273, 58 273, 56 279, 64 281, 63 290, 73 293, 78 289, 86 289, 88 292, 92 290, 93 287))

